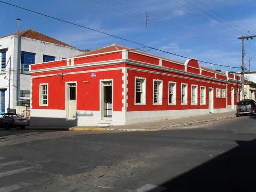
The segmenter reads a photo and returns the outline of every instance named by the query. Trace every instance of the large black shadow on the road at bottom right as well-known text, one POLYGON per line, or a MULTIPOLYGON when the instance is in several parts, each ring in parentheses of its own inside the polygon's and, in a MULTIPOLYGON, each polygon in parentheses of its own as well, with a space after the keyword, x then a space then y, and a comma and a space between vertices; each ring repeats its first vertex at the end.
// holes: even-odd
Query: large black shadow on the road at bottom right
POLYGON ((166 188, 162 192, 255 191, 256 139, 236 143, 236 148, 161 184, 166 188))

